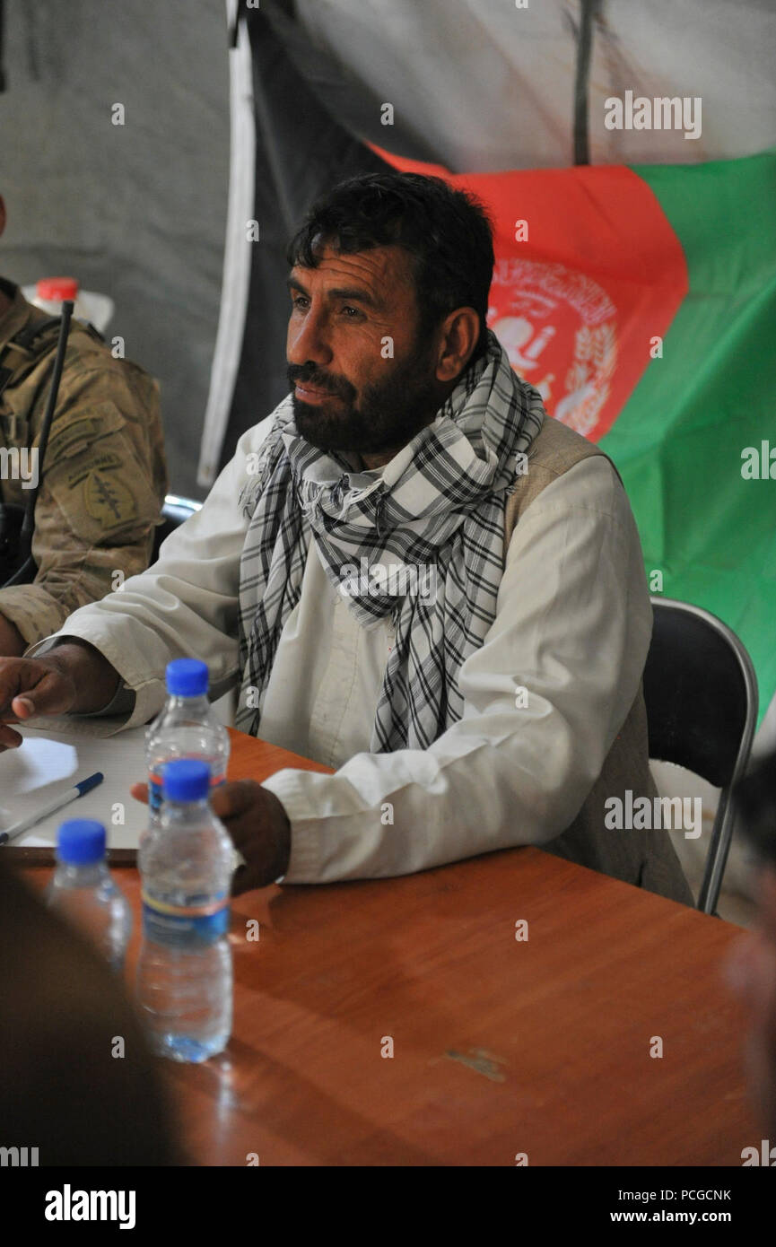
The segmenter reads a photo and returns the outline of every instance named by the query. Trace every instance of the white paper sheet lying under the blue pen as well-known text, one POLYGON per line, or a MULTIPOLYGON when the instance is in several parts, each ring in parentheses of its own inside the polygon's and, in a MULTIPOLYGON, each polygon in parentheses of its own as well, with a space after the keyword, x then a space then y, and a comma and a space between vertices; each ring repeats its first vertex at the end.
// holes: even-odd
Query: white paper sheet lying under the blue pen
POLYGON ((146 778, 145 727, 95 738, 14 726, 24 744, 0 753, 0 832, 101 771, 101 784, 36 823, 14 844, 55 844, 56 829, 65 819, 96 818, 105 824, 109 848, 137 848, 147 826, 147 807, 130 796, 130 787, 146 778))

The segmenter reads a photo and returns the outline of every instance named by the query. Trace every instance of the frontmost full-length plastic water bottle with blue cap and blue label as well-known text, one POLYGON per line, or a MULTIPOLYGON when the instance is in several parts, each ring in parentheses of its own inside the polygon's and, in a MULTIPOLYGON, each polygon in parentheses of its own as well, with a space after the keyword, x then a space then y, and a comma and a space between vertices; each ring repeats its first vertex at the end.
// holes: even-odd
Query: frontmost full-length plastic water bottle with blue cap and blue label
POLYGON ((137 996, 151 1044, 175 1061, 223 1051, 232 1030, 232 842, 208 803, 210 767, 170 762, 161 818, 142 838, 137 996))

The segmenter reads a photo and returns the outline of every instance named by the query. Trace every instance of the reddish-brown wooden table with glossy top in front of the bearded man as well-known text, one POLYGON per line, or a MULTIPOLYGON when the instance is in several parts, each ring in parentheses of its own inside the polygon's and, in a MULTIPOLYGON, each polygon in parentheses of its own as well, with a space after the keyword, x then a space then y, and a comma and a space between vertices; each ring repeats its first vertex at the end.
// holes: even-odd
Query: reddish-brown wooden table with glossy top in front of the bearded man
MULTIPOLYGON (((232 778, 326 769, 232 738, 232 778)), ((740 1166, 740 934, 534 848, 250 893, 227 1051, 161 1062, 182 1137, 200 1165, 740 1166)))

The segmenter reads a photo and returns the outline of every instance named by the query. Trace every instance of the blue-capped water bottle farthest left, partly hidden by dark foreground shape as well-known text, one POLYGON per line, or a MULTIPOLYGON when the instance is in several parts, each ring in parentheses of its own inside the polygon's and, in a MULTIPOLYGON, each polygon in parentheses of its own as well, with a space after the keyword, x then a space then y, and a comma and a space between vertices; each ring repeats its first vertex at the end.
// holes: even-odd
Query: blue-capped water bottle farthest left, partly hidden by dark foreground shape
POLYGON ((105 827, 71 818, 56 835, 57 865, 46 903, 90 936, 111 968, 120 971, 132 932, 132 910, 105 860, 105 827))

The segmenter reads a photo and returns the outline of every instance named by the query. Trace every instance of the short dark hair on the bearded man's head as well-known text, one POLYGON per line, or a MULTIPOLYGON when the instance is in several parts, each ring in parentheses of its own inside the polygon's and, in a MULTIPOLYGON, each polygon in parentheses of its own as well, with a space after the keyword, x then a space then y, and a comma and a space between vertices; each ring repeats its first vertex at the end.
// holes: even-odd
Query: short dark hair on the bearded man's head
POLYGON ((479 315, 472 360, 487 345, 493 227, 480 201, 439 177, 367 173, 339 182, 309 208, 288 244, 291 267, 316 268, 319 249, 352 254, 398 244, 412 258, 420 333, 428 337, 458 307, 479 315))

